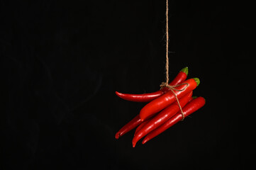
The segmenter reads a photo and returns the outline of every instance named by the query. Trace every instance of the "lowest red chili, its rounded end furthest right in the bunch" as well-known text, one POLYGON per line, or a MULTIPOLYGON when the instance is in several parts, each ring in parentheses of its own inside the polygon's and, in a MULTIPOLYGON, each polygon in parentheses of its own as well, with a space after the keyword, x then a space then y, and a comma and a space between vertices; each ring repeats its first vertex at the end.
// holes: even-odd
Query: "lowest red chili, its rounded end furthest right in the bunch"
MULTIPOLYGON (((191 113, 194 113, 199 108, 203 107, 205 103, 206 103, 206 100, 203 97, 198 97, 198 98, 193 99, 191 102, 187 103, 187 105, 184 106, 184 108, 182 108, 184 116, 187 117, 191 113)), ((180 120, 182 120, 182 113, 179 112, 179 113, 175 114, 174 116, 172 116, 172 118, 167 120, 160 127, 158 127, 157 129, 153 130, 152 132, 150 132, 144 138, 143 144, 145 144, 145 142, 148 142, 149 140, 151 140, 153 137, 156 137, 157 135, 160 135, 160 133, 162 133, 165 130, 167 130, 168 128, 172 127, 172 125, 175 125, 180 120)))

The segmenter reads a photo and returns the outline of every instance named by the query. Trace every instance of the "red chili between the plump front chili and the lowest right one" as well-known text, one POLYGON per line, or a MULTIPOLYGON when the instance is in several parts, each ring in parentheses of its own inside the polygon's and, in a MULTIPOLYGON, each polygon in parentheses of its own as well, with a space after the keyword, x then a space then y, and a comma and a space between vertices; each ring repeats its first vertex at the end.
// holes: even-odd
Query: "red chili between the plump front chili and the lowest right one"
MULTIPOLYGON (((192 98, 192 91, 190 93, 187 93, 185 96, 179 99, 179 104, 183 108, 189 100, 192 98)), ((147 135, 152 130, 155 130, 160 125, 165 123, 169 118, 172 118, 173 115, 178 113, 179 111, 179 105, 177 101, 175 103, 172 103, 172 105, 168 106, 164 110, 162 110, 160 113, 158 113, 154 118, 150 120, 149 123, 143 126, 133 137, 133 147, 135 147, 138 140, 143 138, 145 135, 147 135)), ((144 122, 143 122, 144 123, 144 122)), ((142 124, 140 124, 142 125, 142 124)))

